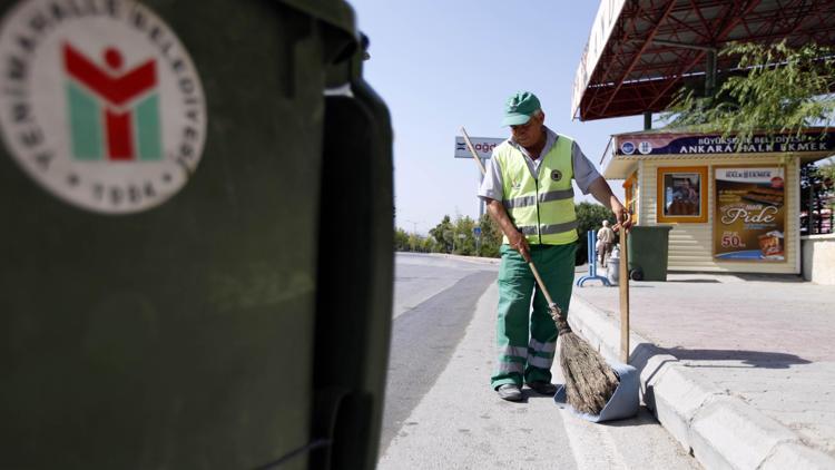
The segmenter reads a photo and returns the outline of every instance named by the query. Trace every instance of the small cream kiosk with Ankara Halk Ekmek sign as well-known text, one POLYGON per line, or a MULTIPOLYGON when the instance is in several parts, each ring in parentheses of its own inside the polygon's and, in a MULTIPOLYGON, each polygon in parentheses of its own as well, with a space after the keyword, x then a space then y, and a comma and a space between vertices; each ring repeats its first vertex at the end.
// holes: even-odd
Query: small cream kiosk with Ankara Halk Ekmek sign
POLYGON ((672 227, 670 271, 800 273, 800 164, 834 154, 835 136, 648 130, 611 144, 603 176, 625 179, 639 226, 672 227))

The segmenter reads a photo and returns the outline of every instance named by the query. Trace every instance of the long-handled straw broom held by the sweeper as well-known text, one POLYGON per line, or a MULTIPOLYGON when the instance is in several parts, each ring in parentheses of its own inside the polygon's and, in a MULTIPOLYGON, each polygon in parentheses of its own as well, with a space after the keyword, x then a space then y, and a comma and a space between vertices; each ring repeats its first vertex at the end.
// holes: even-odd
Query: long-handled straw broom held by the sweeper
MULTIPOLYGON (((461 128, 470 154, 478 161, 482 174, 484 167, 481 165, 475 149, 470 141, 466 130, 461 128)), ((592 261, 593 263, 593 261, 592 261)), ((533 261, 528 261, 528 266, 537 280, 539 288, 548 301, 551 317, 557 324, 560 343, 560 368, 566 379, 566 400, 574 410, 581 413, 600 414, 609 399, 618 388, 619 379, 615 371, 606 363, 603 356, 583 341, 577 333, 571 331, 562 310, 551 300, 542 278, 539 276, 533 261)))

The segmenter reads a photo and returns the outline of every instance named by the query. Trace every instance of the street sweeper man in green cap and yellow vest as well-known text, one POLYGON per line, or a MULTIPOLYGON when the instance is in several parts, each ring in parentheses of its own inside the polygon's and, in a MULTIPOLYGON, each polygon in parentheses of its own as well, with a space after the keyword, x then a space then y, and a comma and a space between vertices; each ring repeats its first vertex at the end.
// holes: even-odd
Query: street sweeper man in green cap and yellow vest
POLYGON ((511 137, 493 150, 479 188, 504 234, 495 325, 499 358, 491 385, 510 401, 522 400, 522 383, 541 394, 557 391, 551 383, 557 326, 528 262, 568 313, 578 239, 571 179, 610 208, 618 223, 626 218, 623 205, 577 143, 546 127, 544 120, 532 92, 519 91, 508 99, 502 125, 510 127, 511 137))

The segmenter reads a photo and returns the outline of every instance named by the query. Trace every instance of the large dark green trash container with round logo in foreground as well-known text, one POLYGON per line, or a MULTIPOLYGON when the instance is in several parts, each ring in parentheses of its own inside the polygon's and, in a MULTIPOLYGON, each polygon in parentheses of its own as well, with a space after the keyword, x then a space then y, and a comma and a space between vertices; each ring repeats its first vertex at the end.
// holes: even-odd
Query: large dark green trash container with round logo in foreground
POLYGON ((350 7, 0 16, 2 466, 373 468, 392 137, 350 7))

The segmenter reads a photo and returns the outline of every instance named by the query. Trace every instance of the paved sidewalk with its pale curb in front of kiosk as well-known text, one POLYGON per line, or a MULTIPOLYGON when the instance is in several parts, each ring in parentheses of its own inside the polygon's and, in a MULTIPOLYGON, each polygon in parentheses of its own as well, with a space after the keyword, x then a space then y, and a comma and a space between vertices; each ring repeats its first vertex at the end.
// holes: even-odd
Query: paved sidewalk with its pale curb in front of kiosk
MULTIPOLYGON (((599 284, 570 320, 616 358, 618 288, 599 284)), ((835 287, 670 274, 630 282, 630 323, 645 402, 706 468, 835 469, 835 287)))

